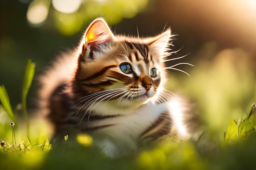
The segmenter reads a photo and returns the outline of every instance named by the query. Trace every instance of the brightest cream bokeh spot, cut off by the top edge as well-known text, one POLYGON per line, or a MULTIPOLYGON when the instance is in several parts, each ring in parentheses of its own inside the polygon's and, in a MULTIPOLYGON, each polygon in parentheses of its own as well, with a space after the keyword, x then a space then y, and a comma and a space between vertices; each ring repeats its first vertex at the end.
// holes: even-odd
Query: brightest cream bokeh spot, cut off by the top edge
POLYGON ((81 0, 52 0, 52 6, 62 13, 74 13, 81 6, 81 0))

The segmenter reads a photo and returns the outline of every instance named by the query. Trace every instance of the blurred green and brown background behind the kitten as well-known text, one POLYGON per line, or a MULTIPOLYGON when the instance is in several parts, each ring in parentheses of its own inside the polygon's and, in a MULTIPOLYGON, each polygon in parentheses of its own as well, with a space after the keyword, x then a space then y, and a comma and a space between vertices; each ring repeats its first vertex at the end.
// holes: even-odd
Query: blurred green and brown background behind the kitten
MULTIPOLYGON (((79 42, 86 26, 103 16, 112 31, 154 36, 171 27, 171 57, 191 66, 170 71, 167 88, 188 96, 213 140, 221 141, 230 119, 242 118, 256 101, 256 2, 230 0, 0 0, 0 84, 13 108, 21 101, 25 66, 36 76, 79 42)), ((36 81, 28 96, 33 107, 36 81)))

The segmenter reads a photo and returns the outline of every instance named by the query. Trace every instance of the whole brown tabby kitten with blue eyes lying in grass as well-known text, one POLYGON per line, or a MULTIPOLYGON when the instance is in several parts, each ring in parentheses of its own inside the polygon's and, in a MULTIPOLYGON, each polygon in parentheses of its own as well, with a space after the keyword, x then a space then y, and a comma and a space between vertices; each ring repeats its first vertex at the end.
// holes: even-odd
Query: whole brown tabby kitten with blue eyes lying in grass
POLYGON ((56 134, 77 128, 110 157, 170 133, 186 137, 188 108, 164 90, 171 37, 170 29, 152 38, 113 35, 94 20, 79 47, 41 77, 41 106, 56 134))

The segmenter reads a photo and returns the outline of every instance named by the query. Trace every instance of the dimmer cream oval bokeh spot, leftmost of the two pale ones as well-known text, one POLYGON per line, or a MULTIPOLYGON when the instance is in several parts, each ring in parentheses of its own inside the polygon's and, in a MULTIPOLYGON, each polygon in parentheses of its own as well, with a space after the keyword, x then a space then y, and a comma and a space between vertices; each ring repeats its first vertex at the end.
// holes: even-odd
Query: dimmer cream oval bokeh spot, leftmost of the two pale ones
POLYGON ((32 25, 40 25, 47 19, 48 11, 47 4, 34 1, 27 10, 27 20, 32 25))

